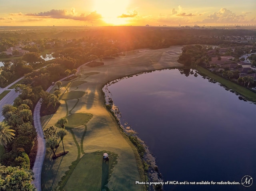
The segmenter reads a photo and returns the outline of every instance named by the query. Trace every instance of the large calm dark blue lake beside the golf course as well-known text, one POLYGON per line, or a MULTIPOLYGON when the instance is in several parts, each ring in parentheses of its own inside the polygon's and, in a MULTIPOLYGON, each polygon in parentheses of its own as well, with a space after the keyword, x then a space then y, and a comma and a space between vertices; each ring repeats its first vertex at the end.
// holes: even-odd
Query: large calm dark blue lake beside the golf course
POLYGON ((250 187, 176 184, 165 190, 256 190, 255 104, 178 69, 122 79, 108 89, 122 124, 149 146, 164 181, 254 180, 250 187))

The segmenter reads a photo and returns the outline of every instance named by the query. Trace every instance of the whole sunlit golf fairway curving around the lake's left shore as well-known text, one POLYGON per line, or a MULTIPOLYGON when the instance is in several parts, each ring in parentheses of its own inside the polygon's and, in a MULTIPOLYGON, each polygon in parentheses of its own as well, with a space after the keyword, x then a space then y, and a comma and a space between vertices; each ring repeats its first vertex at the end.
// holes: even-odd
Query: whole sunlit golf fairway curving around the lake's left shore
MULTIPOLYGON (((43 191, 146 190, 143 185, 135 184, 136 181, 145 181, 142 161, 112 114, 106 110, 102 87, 108 81, 127 75, 182 67, 177 62, 181 48, 172 46, 126 52, 125 56, 103 60, 104 65, 82 65, 78 68, 77 78, 62 81, 61 105, 55 114, 42 116, 41 123, 43 130, 50 126, 58 129, 56 122, 62 117, 68 119, 65 126, 69 134, 63 142, 69 153, 53 160, 52 150, 46 150, 41 179, 43 191), (104 152, 110 156, 107 163, 102 160, 104 152)), ((56 154, 61 152, 60 143, 56 154)))

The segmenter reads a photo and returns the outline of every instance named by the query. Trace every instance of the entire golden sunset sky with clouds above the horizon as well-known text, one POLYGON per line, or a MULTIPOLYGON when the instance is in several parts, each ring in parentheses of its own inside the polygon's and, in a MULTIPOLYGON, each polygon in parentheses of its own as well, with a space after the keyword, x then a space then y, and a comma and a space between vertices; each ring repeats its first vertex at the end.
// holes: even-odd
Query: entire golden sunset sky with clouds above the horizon
POLYGON ((0 0, 0 26, 255 24, 256 0, 0 0))

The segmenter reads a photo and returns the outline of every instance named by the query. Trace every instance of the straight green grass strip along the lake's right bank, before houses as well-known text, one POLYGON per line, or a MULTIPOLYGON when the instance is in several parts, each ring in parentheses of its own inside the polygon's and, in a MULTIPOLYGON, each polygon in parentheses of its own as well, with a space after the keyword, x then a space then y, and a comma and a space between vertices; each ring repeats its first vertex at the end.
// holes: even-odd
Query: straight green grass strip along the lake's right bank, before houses
POLYGON ((222 85, 236 91, 237 93, 245 96, 246 98, 248 98, 250 101, 256 102, 256 93, 253 93, 252 91, 238 85, 235 84, 227 79, 224 79, 212 72, 210 72, 207 69, 204 69, 203 67, 197 66, 196 70, 208 77, 210 77, 211 79, 214 79, 215 81, 221 83, 222 85))

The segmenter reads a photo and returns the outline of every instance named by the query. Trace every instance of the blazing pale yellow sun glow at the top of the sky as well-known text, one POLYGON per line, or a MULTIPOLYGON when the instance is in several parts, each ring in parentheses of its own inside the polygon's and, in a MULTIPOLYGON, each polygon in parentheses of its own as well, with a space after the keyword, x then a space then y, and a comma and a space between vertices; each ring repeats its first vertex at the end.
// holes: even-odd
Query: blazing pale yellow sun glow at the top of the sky
POLYGON ((102 20, 107 24, 123 25, 127 23, 126 18, 118 18, 127 13, 130 0, 94 0, 94 10, 102 15, 102 20))

